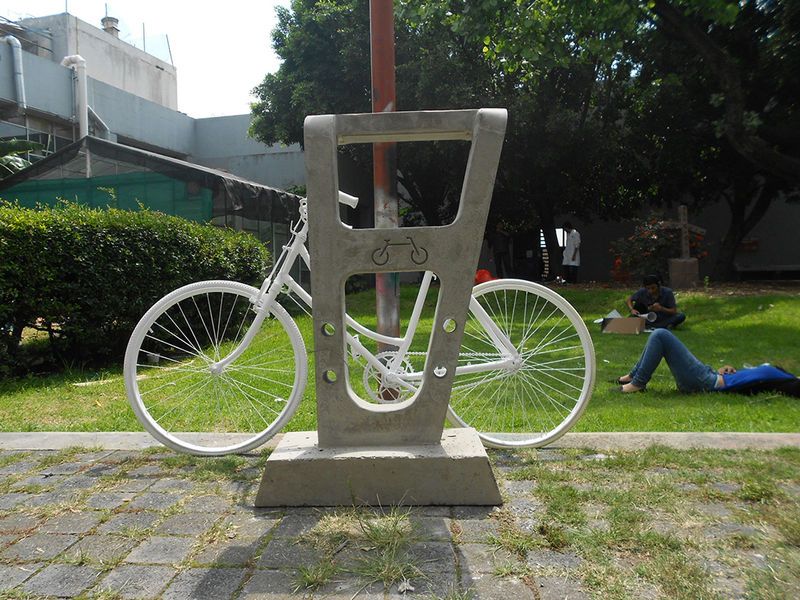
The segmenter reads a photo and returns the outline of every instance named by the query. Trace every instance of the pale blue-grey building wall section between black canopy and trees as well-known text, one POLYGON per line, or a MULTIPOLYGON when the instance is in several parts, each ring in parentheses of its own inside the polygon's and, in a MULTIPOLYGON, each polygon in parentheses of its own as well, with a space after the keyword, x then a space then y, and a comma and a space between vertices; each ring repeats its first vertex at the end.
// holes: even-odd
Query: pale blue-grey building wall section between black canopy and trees
POLYGON ((266 146, 248 137, 249 126, 250 115, 196 119, 189 159, 278 189, 305 184, 300 145, 266 146))

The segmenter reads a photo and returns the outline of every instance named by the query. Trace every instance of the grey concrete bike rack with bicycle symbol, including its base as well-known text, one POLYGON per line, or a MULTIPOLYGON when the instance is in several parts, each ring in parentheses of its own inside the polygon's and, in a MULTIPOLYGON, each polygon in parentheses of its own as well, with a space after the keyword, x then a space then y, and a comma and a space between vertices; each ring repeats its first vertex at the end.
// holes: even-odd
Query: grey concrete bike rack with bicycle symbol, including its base
POLYGON ((504 109, 306 118, 318 432, 284 435, 266 463, 257 506, 501 502, 475 430, 445 430, 444 420, 506 119, 504 109), (339 145, 434 140, 472 143, 453 223, 351 229, 341 222, 339 145), (420 270, 441 282, 422 384, 409 400, 368 403, 348 385, 345 282, 356 273, 420 270))

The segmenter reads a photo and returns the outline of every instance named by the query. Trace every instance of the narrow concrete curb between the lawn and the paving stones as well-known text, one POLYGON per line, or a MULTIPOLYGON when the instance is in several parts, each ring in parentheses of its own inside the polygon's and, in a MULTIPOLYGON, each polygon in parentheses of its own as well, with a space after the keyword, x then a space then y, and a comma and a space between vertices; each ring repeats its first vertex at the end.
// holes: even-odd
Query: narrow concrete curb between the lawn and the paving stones
MULTIPOLYGON (((197 434, 198 439, 218 439, 219 445, 243 439, 241 434, 197 434), (201 437, 202 436, 202 437, 201 437)), ((262 448, 274 448, 282 434, 276 435, 262 448)), ((159 442, 144 432, 0 432, 2 450, 60 450, 72 446, 101 447, 109 450, 140 450, 159 446, 159 442)), ((741 433, 741 432, 613 432, 568 433, 554 442, 553 448, 591 448, 593 450, 641 450, 649 446, 670 448, 708 448, 737 450, 753 448, 770 450, 783 446, 800 447, 800 433, 741 433)))

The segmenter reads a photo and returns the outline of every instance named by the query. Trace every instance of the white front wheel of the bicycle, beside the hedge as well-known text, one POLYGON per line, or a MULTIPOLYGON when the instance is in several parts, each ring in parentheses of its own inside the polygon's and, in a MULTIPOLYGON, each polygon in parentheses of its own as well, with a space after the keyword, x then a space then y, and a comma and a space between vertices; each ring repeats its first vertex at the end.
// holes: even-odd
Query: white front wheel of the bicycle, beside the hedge
POLYGON ((275 304, 247 349, 220 368, 257 315, 254 287, 203 281, 159 300, 128 342, 128 400, 153 437, 180 452, 246 452, 297 409, 308 368, 297 325, 275 304), (231 434, 239 435, 217 435, 231 434))

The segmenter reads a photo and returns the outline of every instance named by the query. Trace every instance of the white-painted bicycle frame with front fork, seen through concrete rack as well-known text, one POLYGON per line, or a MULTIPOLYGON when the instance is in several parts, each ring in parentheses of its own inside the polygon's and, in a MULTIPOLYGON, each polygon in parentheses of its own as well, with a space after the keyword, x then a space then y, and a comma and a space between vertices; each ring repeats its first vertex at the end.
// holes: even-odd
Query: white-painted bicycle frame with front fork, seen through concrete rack
MULTIPOLYGON (((247 349, 261 328, 264 319, 269 315, 270 307, 274 305, 273 303, 277 302, 278 294, 280 294, 282 290, 288 289, 295 294, 309 310, 312 308, 313 298, 311 294, 303 289, 290 274, 298 258, 305 263, 306 267, 309 269, 311 268, 308 248, 306 248, 305 245, 307 237, 308 217, 305 200, 303 200, 300 204, 300 219, 297 223, 292 225, 289 243, 283 246, 278 260, 275 261, 272 271, 261 284, 258 294, 250 299, 250 302, 253 304, 253 310, 257 314, 256 318, 253 320, 253 323, 250 325, 250 328, 239 345, 228 356, 210 366, 212 372, 222 372, 247 349)), ((385 252, 386 248, 384 248, 383 251, 385 252)), ((347 326, 352 328, 356 334, 363 335, 378 343, 397 347, 395 355, 384 363, 361 343, 358 339, 358 335, 353 335, 348 331, 346 332, 346 341, 351 353, 354 356, 363 357, 383 378, 387 378, 392 384, 398 384, 411 390, 416 389, 413 383, 422 380, 423 372, 400 372, 400 367, 414 339, 414 334, 419 325, 420 315, 422 314, 423 305, 425 303, 425 296, 428 293, 433 278, 434 274, 432 272, 425 272, 417 298, 414 302, 414 308, 411 312, 408 329, 403 337, 396 338, 382 335, 365 327, 350 315, 345 315, 347 326)), ((470 311, 485 329, 501 358, 479 365, 460 365, 456 367, 456 375, 513 367, 513 365, 519 361, 519 353, 508 337, 495 324, 475 298, 471 298, 470 300, 470 311)))

